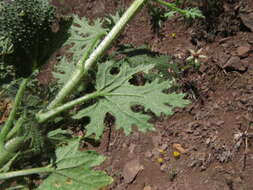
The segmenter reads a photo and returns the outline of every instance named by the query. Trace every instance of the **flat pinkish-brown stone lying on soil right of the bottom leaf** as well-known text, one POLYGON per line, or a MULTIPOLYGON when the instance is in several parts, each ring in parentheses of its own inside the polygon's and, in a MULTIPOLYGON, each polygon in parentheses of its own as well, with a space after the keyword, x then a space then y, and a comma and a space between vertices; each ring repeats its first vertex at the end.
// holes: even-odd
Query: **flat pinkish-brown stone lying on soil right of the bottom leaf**
POLYGON ((139 159, 128 162, 123 169, 123 177, 125 183, 132 183, 139 172, 144 169, 143 165, 140 164, 139 159))

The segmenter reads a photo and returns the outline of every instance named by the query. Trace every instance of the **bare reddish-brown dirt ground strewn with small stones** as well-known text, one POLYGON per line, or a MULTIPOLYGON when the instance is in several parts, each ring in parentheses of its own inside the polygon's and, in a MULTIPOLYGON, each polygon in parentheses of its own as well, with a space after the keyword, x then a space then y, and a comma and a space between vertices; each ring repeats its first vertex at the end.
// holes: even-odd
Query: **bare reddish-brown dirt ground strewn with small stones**
MULTIPOLYGON (((132 1, 61 2, 56 4, 63 13, 92 20, 132 1)), ((178 79, 191 105, 156 119, 155 132, 135 131, 126 137, 112 127, 98 147, 91 147, 107 156, 102 169, 114 183, 106 189, 253 189, 253 2, 221 2, 219 16, 209 23, 176 18, 164 22, 159 33, 144 7, 120 36, 120 44, 146 44, 178 64, 189 56, 189 48, 202 48, 208 59, 199 71, 189 69, 178 79), (212 23, 213 33, 207 30, 212 23), (180 156, 173 155, 175 151, 180 156)))

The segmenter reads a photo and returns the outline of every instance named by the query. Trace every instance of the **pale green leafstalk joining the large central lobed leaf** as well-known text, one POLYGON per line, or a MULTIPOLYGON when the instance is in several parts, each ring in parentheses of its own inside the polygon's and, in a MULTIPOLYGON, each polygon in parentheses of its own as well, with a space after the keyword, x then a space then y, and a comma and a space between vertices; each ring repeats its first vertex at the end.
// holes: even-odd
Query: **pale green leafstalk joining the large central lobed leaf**
POLYGON ((70 101, 70 102, 68 102, 68 103, 66 103, 62 106, 58 106, 54 109, 51 109, 48 112, 39 113, 39 114, 36 115, 36 119, 39 123, 43 123, 43 122, 47 121, 48 119, 56 116, 57 114, 59 114, 63 111, 71 109, 76 105, 82 104, 84 102, 87 102, 88 100, 95 99, 95 98, 98 98, 100 96, 104 96, 104 95, 102 93, 99 93, 99 92, 94 92, 94 93, 91 93, 91 94, 87 94, 85 96, 82 96, 80 98, 72 100, 72 101, 70 101))

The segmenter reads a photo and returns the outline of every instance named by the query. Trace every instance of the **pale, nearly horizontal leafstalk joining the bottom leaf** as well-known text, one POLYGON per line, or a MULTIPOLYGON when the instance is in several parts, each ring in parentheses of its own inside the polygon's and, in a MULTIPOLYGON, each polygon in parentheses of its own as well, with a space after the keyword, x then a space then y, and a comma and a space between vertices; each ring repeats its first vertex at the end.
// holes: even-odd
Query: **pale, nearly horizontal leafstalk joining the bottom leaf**
POLYGON ((47 167, 41 167, 41 168, 32 168, 32 169, 19 170, 15 172, 6 172, 6 173, 0 173, 0 180, 9 179, 13 177, 19 177, 19 176, 25 176, 25 175, 31 175, 31 174, 51 173, 54 171, 55 169, 49 165, 47 167))

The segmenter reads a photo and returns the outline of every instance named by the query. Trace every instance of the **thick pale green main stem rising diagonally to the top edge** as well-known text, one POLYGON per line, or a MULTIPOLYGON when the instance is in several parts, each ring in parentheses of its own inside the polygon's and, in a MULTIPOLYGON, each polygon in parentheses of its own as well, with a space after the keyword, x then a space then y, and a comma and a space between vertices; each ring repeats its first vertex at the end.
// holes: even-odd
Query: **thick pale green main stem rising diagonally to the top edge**
POLYGON ((104 40, 99 44, 99 46, 92 52, 91 55, 87 55, 89 58, 87 60, 83 58, 79 61, 80 65, 83 65, 85 61, 84 67, 82 68, 84 70, 79 68, 79 70, 76 71, 76 73, 71 78, 71 81, 74 82, 68 82, 63 87, 64 90, 62 89, 53 100, 53 102, 48 106, 49 110, 56 108, 59 104, 62 103, 65 97, 71 93, 72 89, 76 87, 82 77, 87 74, 87 71, 92 67, 92 65, 94 65, 97 60, 105 53, 108 47, 113 43, 113 41, 131 20, 131 18, 138 12, 138 10, 144 5, 146 1, 147 0, 135 0, 123 14, 120 20, 116 23, 116 25, 112 28, 112 30, 108 33, 108 35, 104 38, 104 40), (63 91, 65 91, 65 93, 63 93, 63 91))

